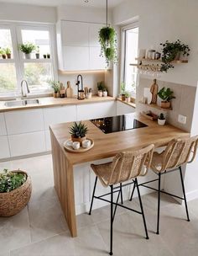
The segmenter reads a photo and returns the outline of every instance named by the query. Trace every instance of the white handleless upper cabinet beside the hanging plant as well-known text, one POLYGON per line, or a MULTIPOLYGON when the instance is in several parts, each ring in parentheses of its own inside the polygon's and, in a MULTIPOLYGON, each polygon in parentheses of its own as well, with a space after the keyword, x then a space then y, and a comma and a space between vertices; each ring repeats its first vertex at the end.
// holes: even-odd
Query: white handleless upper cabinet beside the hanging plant
POLYGON ((102 70, 98 31, 103 24, 59 21, 56 26, 59 69, 63 71, 102 70))

